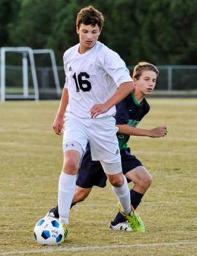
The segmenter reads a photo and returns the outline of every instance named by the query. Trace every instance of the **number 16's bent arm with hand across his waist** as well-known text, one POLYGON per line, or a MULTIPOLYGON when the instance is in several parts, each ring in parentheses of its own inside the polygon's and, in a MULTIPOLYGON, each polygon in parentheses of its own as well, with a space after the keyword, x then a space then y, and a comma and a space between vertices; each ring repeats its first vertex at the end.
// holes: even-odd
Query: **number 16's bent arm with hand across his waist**
POLYGON ((133 82, 126 82, 120 84, 117 91, 110 97, 110 99, 106 100, 103 104, 96 104, 91 108, 91 117, 96 117, 102 113, 105 113, 114 105, 119 103, 122 99, 124 99, 129 93, 134 92, 135 85, 133 82))

